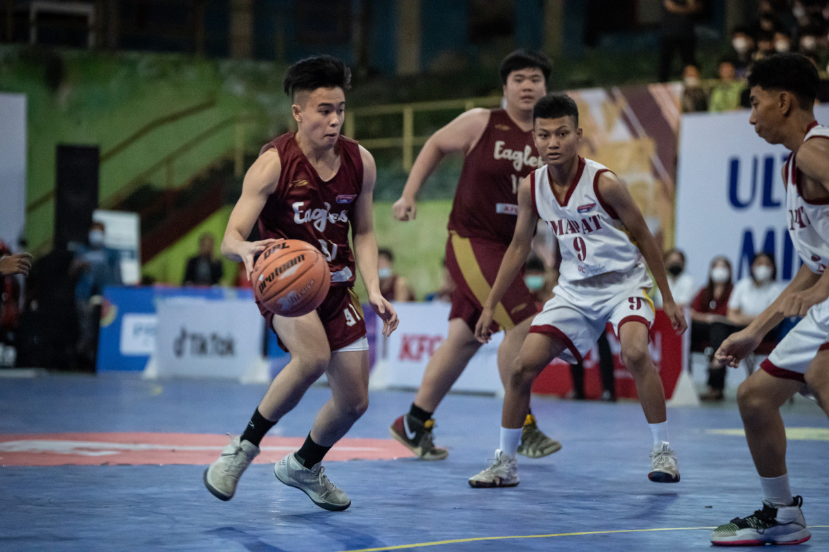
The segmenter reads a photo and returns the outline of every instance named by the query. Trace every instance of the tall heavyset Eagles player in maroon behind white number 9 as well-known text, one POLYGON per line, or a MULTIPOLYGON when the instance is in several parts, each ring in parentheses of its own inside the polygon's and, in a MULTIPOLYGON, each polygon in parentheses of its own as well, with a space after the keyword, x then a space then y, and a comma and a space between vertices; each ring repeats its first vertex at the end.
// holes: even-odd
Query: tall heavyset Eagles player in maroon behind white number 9
MULTIPOLYGON (((532 108, 546 94, 549 78, 550 60, 545 55, 526 50, 507 55, 501 65, 505 107, 470 109, 435 132, 392 207, 398 220, 414 218, 414 199, 425 180, 444 156, 463 153, 446 243, 446 267, 455 282, 448 336, 429 359, 409 414, 390 427, 392 437, 425 460, 448 455, 446 449, 434 446, 432 415, 481 346, 475 339, 475 324, 515 230, 518 182, 540 166, 532 139, 532 108)), ((536 312, 536 301, 519 275, 492 323, 493 332, 505 330, 497 355, 502 382, 536 312)), ((560 448, 541 433, 528 412, 519 453, 540 458, 560 448)))

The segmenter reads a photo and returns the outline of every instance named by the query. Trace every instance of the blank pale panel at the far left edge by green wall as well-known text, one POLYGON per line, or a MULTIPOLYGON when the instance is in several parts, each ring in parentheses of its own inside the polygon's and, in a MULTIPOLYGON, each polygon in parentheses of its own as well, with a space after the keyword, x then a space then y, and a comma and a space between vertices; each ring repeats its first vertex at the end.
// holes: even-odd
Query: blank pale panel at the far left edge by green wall
POLYGON ((17 252, 26 224, 26 95, 0 94, 0 240, 17 252))

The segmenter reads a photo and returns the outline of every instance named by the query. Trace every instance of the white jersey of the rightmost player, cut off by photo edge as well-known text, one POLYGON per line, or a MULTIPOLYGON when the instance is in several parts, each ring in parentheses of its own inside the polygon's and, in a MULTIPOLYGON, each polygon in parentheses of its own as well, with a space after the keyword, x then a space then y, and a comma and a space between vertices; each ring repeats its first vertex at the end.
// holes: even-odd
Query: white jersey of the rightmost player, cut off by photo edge
MULTIPOLYGON (((803 142, 815 137, 829 138, 829 127, 813 122, 803 142)), ((800 194, 802 173, 797 170, 795 153, 788 156, 783 174, 786 185, 788 235, 797 254, 812 272, 821 274, 829 266, 829 199, 807 201, 800 194)))

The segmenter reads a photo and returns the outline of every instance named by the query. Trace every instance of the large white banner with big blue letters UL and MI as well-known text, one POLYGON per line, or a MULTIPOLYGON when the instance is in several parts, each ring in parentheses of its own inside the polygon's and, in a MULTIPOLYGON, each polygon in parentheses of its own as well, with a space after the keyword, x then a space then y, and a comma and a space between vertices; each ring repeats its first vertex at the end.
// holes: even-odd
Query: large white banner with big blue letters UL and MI
MULTIPOLYGON (((829 123, 829 106, 815 108, 829 123)), ((749 110, 682 115, 676 170, 676 247, 697 286, 716 255, 728 257, 734 281, 749 274, 754 252, 774 254, 778 280, 800 267, 788 238, 781 170, 788 151, 757 136, 749 110)))

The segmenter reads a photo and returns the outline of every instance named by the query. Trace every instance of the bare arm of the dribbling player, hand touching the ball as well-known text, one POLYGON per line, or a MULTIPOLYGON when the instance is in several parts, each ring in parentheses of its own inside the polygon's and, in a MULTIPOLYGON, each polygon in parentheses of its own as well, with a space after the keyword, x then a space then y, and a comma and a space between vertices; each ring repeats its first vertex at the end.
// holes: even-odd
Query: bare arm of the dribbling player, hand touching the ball
POLYGON ((247 241, 256 219, 264 208, 268 196, 274 193, 279 184, 281 165, 279 153, 272 149, 265 151, 250 166, 242 183, 242 194, 230 212, 230 218, 225 228, 225 237, 221 240, 221 252, 231 261, 245 263, 245 272, 248 280, 254 268, 254 257, 274 239, 247 241))

